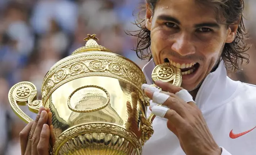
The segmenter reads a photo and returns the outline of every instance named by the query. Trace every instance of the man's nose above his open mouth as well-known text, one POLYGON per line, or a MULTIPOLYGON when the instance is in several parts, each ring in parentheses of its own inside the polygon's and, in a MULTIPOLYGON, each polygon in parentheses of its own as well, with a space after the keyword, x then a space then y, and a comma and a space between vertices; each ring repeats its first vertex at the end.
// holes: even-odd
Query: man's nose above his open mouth
POLYGON ((175 42, 172 45, 172 50, 176 51, 182 56, 194 54, 196 47, 190 34, 180 34, 176 36, 175 42))

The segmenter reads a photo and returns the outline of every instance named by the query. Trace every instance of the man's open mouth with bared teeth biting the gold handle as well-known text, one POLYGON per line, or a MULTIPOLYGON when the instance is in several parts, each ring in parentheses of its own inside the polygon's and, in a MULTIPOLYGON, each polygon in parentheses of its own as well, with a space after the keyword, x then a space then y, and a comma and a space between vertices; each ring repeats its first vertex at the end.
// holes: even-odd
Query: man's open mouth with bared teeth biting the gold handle
POLYGON ((181 70, 181 74, 182 75, 189 75, 192 74, 193 72, 195 72, 200 64, 198 62, 190 62, 190 63, 178 63, 175 62, 169 58, 165 58, 165 63, 171 63, 173 66, 175 66, 176 68, 180 68, 181 70))

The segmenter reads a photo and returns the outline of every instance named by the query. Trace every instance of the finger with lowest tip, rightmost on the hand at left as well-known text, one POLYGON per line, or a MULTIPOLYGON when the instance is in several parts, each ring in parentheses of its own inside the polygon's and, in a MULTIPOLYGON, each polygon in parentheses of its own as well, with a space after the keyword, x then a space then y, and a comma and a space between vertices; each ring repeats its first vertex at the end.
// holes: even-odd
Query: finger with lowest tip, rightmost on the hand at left
POLYGON ((44 124, 40 134, 40 140, 37 145, 38 155, 49 155, 49 140, 50 140, 50 129, 47 124, 44 124))

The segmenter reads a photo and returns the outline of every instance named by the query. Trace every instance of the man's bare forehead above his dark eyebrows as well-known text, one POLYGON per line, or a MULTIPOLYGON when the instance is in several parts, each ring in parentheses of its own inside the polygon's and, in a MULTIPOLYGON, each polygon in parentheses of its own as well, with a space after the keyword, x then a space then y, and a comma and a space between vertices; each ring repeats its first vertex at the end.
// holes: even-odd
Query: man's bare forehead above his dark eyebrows
POLYGON ((159 15, 175 17, 181 24, 184 22, 217 22, 215 8, 203 5, 198 0, 158 0, 154 10, 154 17, 159 15))

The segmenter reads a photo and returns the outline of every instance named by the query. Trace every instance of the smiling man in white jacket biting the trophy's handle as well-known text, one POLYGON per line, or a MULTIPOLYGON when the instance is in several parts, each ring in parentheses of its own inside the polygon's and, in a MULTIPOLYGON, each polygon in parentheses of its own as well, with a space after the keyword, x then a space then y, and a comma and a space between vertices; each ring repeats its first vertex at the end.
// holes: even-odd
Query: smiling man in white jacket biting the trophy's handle
MULTIPOLYGON (((147 83, 155 65, 170 62, 181 68, 182 85, 157 81, 161 92, 143 85, 148 113, 157 115, 144 155, 256 154, 256 86, 227 77, 248 62, 243 7, 243 0, 146 0, 133 35, 137 55, 149 59, 147 83)), ((48 155, 47 111, 21 131, 22 155, 48 155)))

